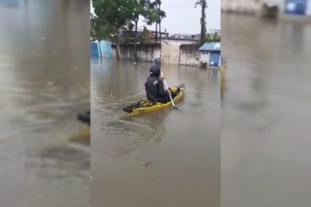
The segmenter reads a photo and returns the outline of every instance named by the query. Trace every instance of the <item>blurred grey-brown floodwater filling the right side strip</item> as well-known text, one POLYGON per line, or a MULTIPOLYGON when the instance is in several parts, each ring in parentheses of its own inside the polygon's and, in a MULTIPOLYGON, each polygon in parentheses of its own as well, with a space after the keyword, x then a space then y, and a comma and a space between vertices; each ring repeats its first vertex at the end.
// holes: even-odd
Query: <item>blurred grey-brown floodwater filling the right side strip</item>
POLYGON ((221 203, 311 203, 311 24, 222 14, 221 203))

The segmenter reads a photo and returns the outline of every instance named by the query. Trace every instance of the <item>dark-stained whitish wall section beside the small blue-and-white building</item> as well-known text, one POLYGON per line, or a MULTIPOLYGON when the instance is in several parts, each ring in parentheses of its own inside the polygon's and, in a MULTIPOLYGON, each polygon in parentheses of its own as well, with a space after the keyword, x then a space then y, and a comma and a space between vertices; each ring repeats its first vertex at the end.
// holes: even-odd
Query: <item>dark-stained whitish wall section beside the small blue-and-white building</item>
POLYGON ((181 45, 179 64, 184 66, 198 66, 199 52, 198 45, 181 45))

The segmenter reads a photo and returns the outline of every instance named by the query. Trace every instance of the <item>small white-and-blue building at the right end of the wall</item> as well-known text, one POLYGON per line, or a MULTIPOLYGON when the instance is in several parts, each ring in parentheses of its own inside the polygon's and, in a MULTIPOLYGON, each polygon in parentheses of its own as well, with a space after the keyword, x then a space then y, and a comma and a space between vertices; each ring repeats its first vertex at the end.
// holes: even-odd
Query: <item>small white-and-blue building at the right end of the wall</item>
POLYGON ((200 48, 200 65, 220 67, 220 42, 206 42, 200 48))

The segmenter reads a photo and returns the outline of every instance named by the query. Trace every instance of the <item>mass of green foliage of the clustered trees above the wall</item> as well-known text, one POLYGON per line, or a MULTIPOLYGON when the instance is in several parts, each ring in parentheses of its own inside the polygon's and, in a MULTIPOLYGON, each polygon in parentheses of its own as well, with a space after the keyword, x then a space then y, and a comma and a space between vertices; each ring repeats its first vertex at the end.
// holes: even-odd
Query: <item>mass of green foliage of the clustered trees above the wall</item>
MULTIPOLYGON (((92 39, 110 39, 117 45, 121 32, 126 43, 134 41, 136 44, 140 17, 143 17, 149 25, 166 17, 164 11, 158 10, 157 5, 160 5, 160 0, 154 2, 151 0, 92 0, 92 3, 95 12, 95 15, 91 17, 92 39)), ((140 35, 140 42, 151 42, 147 29, 140 35)))

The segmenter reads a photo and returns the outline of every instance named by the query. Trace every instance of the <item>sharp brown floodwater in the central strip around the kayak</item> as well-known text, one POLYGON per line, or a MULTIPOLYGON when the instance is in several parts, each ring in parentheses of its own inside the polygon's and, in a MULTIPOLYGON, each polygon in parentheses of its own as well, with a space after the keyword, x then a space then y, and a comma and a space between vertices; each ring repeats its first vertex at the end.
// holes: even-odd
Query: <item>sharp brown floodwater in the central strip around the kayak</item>
POLYGON ((91 205, 220 205, 220 72, 163 65, 178 110, 123 119, 152 63, 91 59, 91 205))

